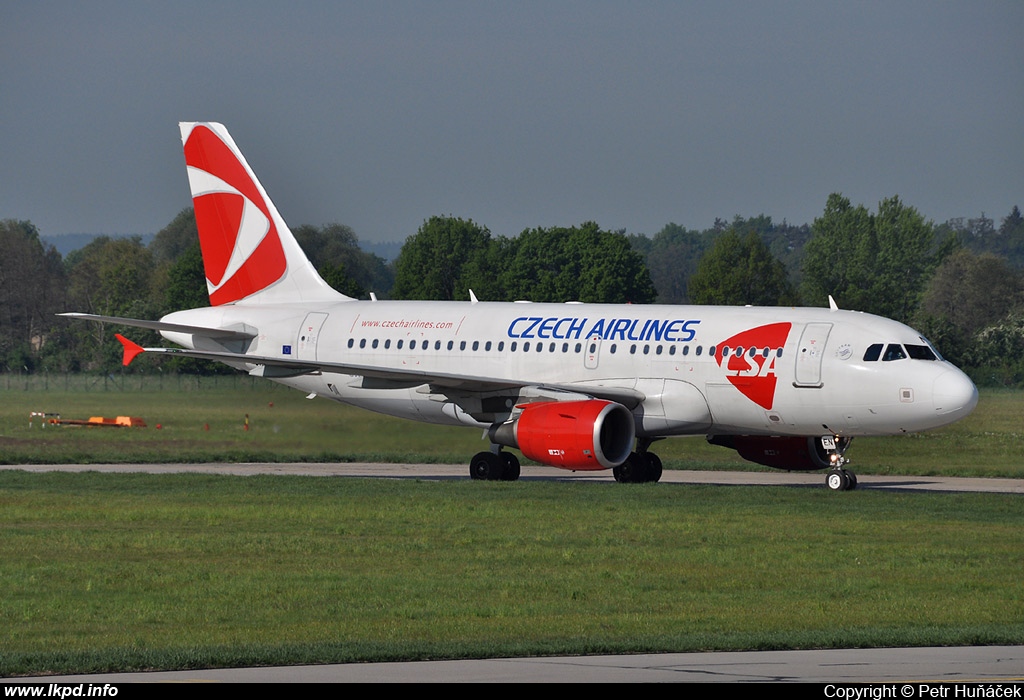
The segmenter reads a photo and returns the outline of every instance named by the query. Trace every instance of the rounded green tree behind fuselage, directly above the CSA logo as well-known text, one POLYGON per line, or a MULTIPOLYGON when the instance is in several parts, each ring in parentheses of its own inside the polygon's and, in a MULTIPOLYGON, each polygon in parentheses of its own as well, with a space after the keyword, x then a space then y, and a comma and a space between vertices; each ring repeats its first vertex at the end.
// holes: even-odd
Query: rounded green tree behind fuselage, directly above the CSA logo
POLYGON ((797 303, 785 266, 768 250, 756 230, 736 228, 721 234, 700 258, 689 280, 694 304, 779 306, 797 303))

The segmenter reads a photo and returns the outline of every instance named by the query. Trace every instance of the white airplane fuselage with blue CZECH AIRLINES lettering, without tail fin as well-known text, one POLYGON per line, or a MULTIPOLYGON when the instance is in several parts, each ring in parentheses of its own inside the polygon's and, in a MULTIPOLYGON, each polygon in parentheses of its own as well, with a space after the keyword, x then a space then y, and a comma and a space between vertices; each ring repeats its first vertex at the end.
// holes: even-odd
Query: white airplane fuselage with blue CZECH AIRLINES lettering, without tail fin
MULTIPOLYGON (((385 370, 383 379, 331 371, 267 377, 430 423, 485 427, 495 410, 480 408, 481 395, 501 399, 507 387, 557 386, 583 394, 632 392, 640 437, 852 437, 944 426, 970 412, 978 396, 915 331, 853 311, 345 301, 239 303, 164 320, 254 327, 248 354, 385 370), (876 358, 865 357, 880 345, 876 358), (465 400, 451 379, 458 377, 466 378, 465 400)), ((195 347, 187 334, 163 335, 195 347)), ((259 370, 258 363, 239 366, 259 370)))

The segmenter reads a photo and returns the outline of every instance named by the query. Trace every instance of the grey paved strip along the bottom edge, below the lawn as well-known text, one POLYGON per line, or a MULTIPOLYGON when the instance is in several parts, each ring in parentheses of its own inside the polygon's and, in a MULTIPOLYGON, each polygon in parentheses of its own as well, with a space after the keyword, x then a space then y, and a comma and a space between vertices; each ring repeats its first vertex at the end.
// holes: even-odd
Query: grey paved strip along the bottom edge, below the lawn
MULTIPOLYGON (((62 675, 7 682, 11 681, 92 684, 788 682, 838 685, 973 682, 1020 685, 1024 683, 1024 647, 560 656, 62 675)), ((913 697, 920 696, 914 693, 913 697)))

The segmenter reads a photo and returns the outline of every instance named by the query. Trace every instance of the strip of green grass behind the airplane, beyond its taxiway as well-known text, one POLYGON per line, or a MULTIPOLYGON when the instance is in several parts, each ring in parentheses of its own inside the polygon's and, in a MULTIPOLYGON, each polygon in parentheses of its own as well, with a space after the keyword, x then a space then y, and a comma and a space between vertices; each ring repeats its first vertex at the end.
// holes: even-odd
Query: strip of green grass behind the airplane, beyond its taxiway
MULTIPOLYGON (((1024 476, 1024 392, 983 390, 974 413, 918 435, 857 438, 860 474, 1024 476)), ((248 377, 0 379, 0 463, 467 463, 480 431, 378 415, 248 377), (272 404, 272 405, 271 405, 272 404), (33 410, 63 418, 130 414, 148 428, 29 428, 33 410), (250 430, 244 430, 249 414, 250 430), (161 429, 156 426, 160 424, 161 429)), ((761 469, 700 438, 658 442, 670 469, 761 469)))

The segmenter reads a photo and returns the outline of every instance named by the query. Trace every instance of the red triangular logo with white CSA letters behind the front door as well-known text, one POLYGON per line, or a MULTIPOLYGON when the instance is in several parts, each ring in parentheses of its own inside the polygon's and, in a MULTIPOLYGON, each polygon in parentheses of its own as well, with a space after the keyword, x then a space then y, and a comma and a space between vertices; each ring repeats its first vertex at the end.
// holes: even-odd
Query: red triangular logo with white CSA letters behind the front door
POLYGON ((719 343, 715 354, 719 366, 725 363, 729 383, 765 410, 771 410, 775 402, 777 350, 785 345, 792 327, 793 323, 770 323, 743 331, 719 343), (722 352, 726 347, 729 348, 728 356, 722 352))

